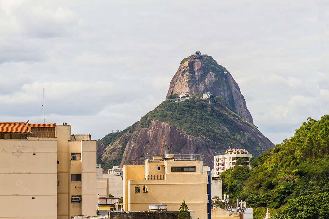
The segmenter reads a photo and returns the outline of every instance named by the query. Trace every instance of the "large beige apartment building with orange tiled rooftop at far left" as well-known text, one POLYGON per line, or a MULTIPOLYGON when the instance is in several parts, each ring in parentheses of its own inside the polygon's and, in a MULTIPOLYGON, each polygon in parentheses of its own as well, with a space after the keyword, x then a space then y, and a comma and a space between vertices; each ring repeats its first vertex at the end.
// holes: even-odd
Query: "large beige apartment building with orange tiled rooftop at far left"
POLYGON ((0 218, 96 215, 96 141, 71 126, 0 122, 0 218))

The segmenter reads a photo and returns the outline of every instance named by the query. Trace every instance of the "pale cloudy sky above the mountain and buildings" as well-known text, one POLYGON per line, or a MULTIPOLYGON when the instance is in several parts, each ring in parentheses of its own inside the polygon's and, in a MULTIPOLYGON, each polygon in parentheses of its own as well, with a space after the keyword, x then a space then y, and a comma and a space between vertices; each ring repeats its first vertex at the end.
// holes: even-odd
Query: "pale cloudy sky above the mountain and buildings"
POLYGON ((201 51, 277 144, 329 111, 329 2, 0 1, 0 121, 101 139, 164 101, 201 51))

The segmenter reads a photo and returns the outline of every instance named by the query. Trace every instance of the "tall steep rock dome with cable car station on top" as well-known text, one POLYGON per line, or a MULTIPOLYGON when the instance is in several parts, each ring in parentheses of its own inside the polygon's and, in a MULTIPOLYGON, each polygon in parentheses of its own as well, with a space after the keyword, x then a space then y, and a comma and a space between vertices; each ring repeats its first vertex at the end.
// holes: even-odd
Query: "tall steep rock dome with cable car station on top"
POLYGON ((201 55, 199 58, 196 58, 196 55, 190 55, 182 60, 171 79, 166 97, 183 93, 202 95, 206 92, 223 98, 243 119, 253 123, 239 85, 229 71, 209 55, 201 55))

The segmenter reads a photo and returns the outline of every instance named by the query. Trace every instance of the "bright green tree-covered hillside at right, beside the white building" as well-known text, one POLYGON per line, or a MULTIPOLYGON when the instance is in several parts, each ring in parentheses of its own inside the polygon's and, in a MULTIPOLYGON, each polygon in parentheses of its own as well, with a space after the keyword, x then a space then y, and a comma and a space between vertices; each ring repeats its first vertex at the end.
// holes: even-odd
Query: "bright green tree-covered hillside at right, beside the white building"
POLYGON ((245 200, 252 208, 266 207, 269 203, 269 208, 287 216, 278 218, 289 218, 292 208, 289 206, 298 203, 298 198, 329 191, 329 116, 321 120, 309 118, 291 139, 277 144, 250 164, 251 170, 237 166, 221 174, 225 193, 232 200, 245 200))

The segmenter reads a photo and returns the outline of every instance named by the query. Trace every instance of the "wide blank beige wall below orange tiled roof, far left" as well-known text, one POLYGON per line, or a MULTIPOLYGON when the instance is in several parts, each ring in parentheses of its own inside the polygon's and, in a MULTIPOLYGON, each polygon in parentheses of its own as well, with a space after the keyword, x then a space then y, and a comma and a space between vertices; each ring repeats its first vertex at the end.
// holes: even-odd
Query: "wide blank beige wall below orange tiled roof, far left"
POLYGON ((55 140, 0 140, 0 218, 57 218, 55 140))

